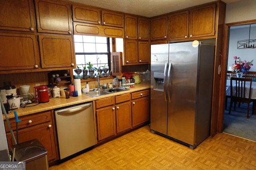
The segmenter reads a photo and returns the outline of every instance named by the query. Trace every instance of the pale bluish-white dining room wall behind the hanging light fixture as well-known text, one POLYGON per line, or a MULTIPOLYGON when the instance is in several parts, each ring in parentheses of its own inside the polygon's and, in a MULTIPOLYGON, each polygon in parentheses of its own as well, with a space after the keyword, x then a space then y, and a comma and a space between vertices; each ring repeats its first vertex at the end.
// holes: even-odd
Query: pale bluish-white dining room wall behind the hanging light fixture
MULTIPOLYGON (((228 66, 234 63, 234 56, 240 57, 241 61, 254 60, 250 71, 256 71, 256 48, 237 49, 237 41, 249 39, 249 27, 231 28, 228 48, 228 66)), ((256 27, 251 27, 250 39, 256 39, 256 27)))

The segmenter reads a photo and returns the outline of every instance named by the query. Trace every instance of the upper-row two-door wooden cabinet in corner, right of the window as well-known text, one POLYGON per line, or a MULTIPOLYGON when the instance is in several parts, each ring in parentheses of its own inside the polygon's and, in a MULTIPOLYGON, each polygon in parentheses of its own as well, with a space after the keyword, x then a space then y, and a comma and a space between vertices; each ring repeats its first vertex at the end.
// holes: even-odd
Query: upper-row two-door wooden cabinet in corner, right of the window
POLYGON ((125 38, 148 40, 149 20, 147 18, 138 18, 132 15, 125 15, 125 38))

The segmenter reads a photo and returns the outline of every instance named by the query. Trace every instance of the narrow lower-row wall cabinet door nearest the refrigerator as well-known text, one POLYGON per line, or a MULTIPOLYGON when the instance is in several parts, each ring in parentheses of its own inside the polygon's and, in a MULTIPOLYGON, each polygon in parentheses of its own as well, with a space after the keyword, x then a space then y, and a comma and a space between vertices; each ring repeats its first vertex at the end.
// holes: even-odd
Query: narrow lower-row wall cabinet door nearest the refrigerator
POLYGON ((139 47, 139 63, 149 63, 149 43, 146 41, 139 41, 138 42, 139 47))

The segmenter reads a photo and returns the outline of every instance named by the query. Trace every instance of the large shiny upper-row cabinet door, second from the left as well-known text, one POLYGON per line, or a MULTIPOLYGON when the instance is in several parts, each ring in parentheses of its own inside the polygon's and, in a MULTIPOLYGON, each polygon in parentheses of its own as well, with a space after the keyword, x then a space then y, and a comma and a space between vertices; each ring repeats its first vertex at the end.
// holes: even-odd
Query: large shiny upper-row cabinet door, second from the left
POLYGON ((38 32, 72 34, 71 6, 52 0, 35 0, 38 32))

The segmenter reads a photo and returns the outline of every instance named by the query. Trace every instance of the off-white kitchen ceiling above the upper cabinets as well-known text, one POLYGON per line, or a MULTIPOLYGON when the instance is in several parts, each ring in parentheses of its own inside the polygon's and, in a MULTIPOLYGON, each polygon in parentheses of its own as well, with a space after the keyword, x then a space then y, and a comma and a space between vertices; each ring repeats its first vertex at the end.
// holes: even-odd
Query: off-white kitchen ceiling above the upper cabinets
MULTIPOLYGON (((70 0, 109 10, 153 17, 216 0, 70 0)), ((222 0, 225 3, 239 0, 222 0)))

